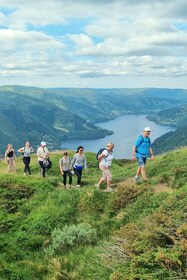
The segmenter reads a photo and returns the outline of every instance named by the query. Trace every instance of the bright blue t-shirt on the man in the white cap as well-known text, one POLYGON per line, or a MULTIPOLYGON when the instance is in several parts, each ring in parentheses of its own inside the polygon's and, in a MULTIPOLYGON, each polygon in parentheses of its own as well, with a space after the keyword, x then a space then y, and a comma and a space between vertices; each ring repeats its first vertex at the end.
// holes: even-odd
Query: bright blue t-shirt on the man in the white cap
POLYGON ((140 135, 135 143, 135 146, 136 157, 148 157, 151 140, 149 137, 143 137, 143 135, 140 135))

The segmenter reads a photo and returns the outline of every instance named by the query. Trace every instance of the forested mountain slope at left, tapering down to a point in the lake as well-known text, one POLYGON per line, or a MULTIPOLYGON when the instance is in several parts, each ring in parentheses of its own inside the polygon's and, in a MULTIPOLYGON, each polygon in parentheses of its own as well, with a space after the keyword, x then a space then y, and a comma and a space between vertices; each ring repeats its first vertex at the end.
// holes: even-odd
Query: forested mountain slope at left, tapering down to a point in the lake
POLYGON ((0 92, 0 98, 1 152, 8 143, 18 148, 26 140, 32 145, 45 140, 54 149, 60 147, 61 139, 99 138, 112 133, 42 98, 9 91, 0 92))

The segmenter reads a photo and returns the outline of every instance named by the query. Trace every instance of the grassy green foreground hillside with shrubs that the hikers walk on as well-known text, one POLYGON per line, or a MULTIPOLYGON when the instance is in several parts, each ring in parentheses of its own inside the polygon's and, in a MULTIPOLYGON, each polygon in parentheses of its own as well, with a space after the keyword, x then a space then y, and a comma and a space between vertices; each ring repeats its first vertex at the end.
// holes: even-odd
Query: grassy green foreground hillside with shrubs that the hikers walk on
POLYGON ((186 279, 187 148, 149 160, 145 183, 137 163, 114 160, 114 193, 95 190, 93 153, 82 188, 64 189, 61 155, 45 179, 35 155, 32 177, 21 158, 16 175, 0 162, 0 279, 186 279))

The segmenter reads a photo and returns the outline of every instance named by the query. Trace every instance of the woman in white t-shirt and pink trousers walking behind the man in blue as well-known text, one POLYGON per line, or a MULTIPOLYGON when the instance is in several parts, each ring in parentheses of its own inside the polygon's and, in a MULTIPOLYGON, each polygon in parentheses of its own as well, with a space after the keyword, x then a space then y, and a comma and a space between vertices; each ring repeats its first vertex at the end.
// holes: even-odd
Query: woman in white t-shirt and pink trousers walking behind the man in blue
POLYGON ((98 156, 99 169, 102 171, 103 176, 99 180, 98 184, 95 184, 95 187, 99 189, 101 184, 103 182, 106 182, 108 192, 113 191, 113 189, 110 186, 112 182, 112 174, 109 170, 113 160, 113 149, 114 149, 114 143, 109 142, 106 145, 106 149, 104 149, 103 152, 98 156))

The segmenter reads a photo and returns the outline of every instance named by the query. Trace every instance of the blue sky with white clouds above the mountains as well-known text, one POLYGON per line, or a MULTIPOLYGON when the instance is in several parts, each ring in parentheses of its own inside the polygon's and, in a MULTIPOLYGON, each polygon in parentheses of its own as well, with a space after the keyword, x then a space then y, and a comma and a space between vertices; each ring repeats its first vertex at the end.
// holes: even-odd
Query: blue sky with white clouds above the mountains
POLYGON ((0 85, 187 88, 186 0, 0 0, 0 85))

